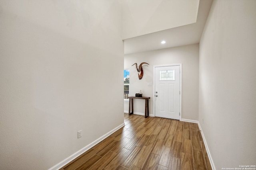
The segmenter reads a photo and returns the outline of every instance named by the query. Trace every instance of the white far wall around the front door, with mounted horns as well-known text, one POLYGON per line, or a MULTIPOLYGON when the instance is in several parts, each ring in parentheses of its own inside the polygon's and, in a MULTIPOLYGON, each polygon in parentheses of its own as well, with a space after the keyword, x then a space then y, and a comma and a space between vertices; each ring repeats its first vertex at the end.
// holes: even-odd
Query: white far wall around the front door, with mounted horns
MULTIPOLYGON (((198 55, 199 45, 186 45, 169 49, 134 53, 124 56, 124 68, 130 70, 130 96, 142 90, 143 96, 149 96, 149 111, 153 114, 153 66, 182 63, 182 119, 198 120, 198 55), (144 76, 138 78, 134 63, 143 64, 144 76), (152 86, 148 86, 148 83, 152 86)), ((144 100, 134 100, 134 112, 144 114, 144 100)), ((124 102, 128 111, 128 102, 124 102)))

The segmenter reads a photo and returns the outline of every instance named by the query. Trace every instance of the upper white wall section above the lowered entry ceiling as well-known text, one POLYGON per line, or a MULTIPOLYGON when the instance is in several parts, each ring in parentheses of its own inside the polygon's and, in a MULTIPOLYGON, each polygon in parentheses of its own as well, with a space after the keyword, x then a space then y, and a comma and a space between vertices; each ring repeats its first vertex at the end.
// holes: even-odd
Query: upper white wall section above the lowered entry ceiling
POLYGON ((199 0, 122 0, 123 39, 196 22, 199 0))

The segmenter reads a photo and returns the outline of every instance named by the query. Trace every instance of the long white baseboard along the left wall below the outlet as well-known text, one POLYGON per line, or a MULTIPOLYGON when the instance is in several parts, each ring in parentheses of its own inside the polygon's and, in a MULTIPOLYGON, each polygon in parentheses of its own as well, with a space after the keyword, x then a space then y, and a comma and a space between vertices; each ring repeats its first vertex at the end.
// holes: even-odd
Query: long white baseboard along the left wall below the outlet
POLYGON ((94 147, 96 144, 100 143, 101 141, 103 141, 104 139, 106 139, 107 137, 109 137, 112 133, 114 133, 115 131, 117 131, 118 129, 124 127, 124 123, 122 123, 121 125, 119 125, 118 127, 114 128, 113 130, 109 131, 108 133, 106 133, 105 135, 103 135, 102 137, 96 139, 95 141, 93 141, 92 143, 90 143, 89 145, 85 146, 84 148, 78 150, 77 152, 75 152, 74 154, 72 154, 71 156, 69 156, 68 158, 62 160, 61 162, 59 162, 58 164, 52 166, 50 169, 48 170, 58 170, 60 168, 62 168, 63 166, 65 166, 66 164, 68 164, 70 161, 74 160, 75 158, 77 158, 78 156, 80 156, 81 154, 83 154, 84 152, 86 152, 87 150, 91 149, 92 147, 94 147))

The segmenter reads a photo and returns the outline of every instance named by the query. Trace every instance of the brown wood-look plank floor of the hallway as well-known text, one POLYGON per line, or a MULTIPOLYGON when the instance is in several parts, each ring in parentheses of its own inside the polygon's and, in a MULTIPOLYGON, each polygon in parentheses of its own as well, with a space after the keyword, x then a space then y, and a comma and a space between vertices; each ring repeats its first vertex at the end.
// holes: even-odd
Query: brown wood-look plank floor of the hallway
POLYGON ((212 170, 196 123, 128 113, 124 123, 61 170, 212 170))

